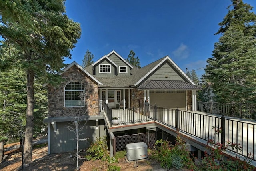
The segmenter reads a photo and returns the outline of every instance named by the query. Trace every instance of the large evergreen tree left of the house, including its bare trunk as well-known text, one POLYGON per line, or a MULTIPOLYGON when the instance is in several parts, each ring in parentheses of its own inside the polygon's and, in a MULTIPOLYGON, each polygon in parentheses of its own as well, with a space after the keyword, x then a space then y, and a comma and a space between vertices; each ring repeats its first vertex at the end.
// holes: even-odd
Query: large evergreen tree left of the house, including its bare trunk
POLYGON ((25 163, 32 162, 34 78, 60 82, 57 72, 65 66, 64 57, 71 58, 70 51, 80 38, 80 24, 64 13, 64 0, 0 1, 0 36, 20 51, 11 56, 12 64, 20 60, 27 76, 25 163))

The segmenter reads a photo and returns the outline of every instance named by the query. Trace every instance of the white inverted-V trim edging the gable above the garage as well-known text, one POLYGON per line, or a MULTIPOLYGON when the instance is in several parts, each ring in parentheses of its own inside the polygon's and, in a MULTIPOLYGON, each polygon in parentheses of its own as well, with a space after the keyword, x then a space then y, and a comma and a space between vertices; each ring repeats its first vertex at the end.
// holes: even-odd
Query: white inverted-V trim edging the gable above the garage
POLYGON ((138 82, 136 82, 134 84, 134 86, 137 86, 138 84, 140 84, 140 82, 142 82, 142 80, 144 80, 147 76, 149 76, 154 70, 156 70, 156 68, 158 68, 162 63, 164 63, 166 60, 169 60, 174 67, 180 72, 180 74, 182 74, 191 84, 196 85, 181 69, 180 67, 177 66, 177 64, 175 64, 175 62, 167 55, 161 62, 159 62, 154 68, 152 68, 152 70, 150 70, 145 76, 143 76, 138 82))

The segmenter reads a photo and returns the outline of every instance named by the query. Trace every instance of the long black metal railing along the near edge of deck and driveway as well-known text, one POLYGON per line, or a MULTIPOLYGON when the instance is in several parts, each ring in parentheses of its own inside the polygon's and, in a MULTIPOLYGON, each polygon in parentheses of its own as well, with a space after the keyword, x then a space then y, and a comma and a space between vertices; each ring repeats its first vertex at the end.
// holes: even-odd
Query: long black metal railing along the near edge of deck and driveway
MULTIPOLYGON (((107 106, 104 104, 104 106, 107 106)), ((210 139, 214 143, 237 143, 242 151, 228 147, 229 151, 248 157, 256 161, 256 123, 227 119, 224 115, 214 116, 199 114, 179 109, 169 109, 156 105, 149 107, 133 107, 131 109, 114 110, 104 107, 105 113, 113 126, 111 118, 119 117, 118 125, 158 121, 176 130, 186 132, 205 142, 210 139)))

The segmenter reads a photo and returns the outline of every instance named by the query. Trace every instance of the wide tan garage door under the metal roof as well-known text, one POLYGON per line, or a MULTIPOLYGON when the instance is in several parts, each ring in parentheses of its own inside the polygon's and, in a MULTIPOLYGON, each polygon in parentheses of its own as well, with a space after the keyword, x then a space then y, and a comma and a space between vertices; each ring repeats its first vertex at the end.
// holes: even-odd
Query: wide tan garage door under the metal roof
POLYGON ((150 91, 150 105, 166 108, 185 108, 186 107, 186 93, 185 91, 150 91))

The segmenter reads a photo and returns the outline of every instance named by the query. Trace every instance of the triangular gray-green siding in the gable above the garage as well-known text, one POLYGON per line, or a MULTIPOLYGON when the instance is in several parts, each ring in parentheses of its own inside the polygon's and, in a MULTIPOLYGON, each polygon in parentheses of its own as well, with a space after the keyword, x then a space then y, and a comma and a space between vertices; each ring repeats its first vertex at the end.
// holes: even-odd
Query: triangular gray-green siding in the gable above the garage
POLYGON ((181 80, 186 82, 169 62, 160 66, 147 80, 181 80))

